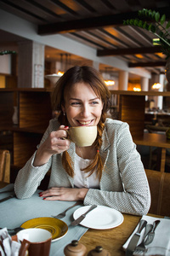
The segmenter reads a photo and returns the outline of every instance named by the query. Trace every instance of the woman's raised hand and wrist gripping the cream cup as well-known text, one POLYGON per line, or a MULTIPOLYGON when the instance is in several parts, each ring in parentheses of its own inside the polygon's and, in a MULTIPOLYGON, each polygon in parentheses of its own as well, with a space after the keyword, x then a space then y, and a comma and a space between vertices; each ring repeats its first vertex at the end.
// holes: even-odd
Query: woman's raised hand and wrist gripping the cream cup
POLYGON ((46 141, 37 149, 33 166, 44 165, 53 154, 64 152, 70 147, 71 142, 63 139, 63 137, 67 137, 66 130, 68 129, 69 127, 60 125, 58 131, 50 133, 46 141))

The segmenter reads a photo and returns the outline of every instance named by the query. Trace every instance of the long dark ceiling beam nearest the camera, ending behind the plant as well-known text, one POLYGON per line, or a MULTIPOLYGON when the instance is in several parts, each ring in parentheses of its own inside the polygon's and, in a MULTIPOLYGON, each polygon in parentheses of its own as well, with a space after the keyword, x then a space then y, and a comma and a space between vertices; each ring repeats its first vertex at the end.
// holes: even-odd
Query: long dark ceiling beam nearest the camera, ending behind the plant
MULTIPOLYGON (((170 16, 168 8, 156 9, 161 14, 170 16)), ((45 25, 39 25, 37 33, 41 36, 56 33, 76 32, 80 30, 95 29, 104 26, 123 26, 123 20, 138 17, 138 11, 114 15, 104 15, 99 17, 87 18, 82 20, 67 20, 45 25)))

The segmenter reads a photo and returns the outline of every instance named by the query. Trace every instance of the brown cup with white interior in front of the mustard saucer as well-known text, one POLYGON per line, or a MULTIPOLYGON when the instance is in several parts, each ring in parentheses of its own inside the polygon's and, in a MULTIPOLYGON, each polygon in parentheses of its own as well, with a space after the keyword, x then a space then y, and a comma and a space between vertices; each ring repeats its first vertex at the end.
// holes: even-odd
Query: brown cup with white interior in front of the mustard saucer
POLYGON ((19 256, 48 256, 52 235, 48 230, 26 229, 17 233, 17 240, 21 242, 19 256))

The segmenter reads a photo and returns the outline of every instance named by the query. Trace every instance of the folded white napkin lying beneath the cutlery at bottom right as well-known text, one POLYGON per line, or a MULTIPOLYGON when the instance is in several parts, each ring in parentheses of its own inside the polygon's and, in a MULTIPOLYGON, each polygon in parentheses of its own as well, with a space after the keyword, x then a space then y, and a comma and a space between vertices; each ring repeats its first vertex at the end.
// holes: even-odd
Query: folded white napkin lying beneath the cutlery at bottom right
MULTIPOLYGON (((149 245, 147 245, 145 247, 146 248, 148 248, 148 247, 165 247, 167 249, 170 249, 170 219, 155 218, 155 217, 150 217, 150 216, 146 216, 146 215, 144 215, 142 217, 142 219, 145 219, 147 221, 147 224, 153 224, 153 222, 156 219, 161 220, 160 224, 158 224, 158 226, 156 227, 154 240, 149 245)), ((138 230, 138 226, 139 226, 139 224, 137 225, 135 230, 133 230, 133 234, 127 239, 125 244, 122 246, 124 250, 127 249, 129 241, 131 240, 134 233, 136 233, 136 231, 138 230)), ((144 230, 142 230, 142 232, 141 232, 141 236, 140 236, 138 245, 141 242, 143 235, 144 235, 144 230)), ((141 255, 141 253, 137 253, 134 251, 133 255, 138 256, 138 255, 141 255)))

